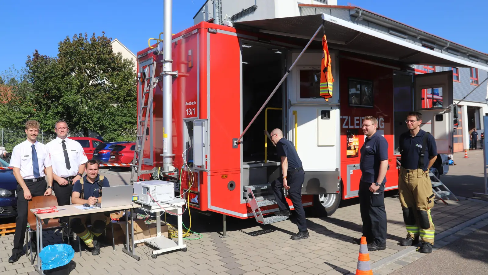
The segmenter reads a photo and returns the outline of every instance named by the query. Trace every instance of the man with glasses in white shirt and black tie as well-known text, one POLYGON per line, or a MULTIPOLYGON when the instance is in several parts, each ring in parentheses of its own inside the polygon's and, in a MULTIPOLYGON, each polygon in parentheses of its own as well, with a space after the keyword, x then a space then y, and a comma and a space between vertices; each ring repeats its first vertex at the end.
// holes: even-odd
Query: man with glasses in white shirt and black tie
MULTIPOLYGON (((46 144, 51 154, 53 165, 54 194, 59 206, 70 204, 73 183, 80 180, 85 170, 86 158, 80 142, 66 138, 68 136, 68 124, 64 120, 58 120, 54 124, 57 137, 46 144)), ((61 218, 61 222, 68 222, 68 217, 61 218)), ((68 234, 66 234, 69 236, 68 234)), ((64 239, 64 238, 63 238, 64 239)))

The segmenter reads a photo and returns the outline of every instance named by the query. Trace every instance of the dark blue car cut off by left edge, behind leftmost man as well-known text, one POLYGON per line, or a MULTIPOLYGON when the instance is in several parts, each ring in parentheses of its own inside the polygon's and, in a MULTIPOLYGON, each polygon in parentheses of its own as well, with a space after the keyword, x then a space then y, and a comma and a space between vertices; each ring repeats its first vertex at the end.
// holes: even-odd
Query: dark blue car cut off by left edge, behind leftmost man
MULTIPOLYGON (((0 159, 0 167, 9 163, 0 159)), ((17 216, 17 180, 12 169, 0 169, 0 219, 17 216)))

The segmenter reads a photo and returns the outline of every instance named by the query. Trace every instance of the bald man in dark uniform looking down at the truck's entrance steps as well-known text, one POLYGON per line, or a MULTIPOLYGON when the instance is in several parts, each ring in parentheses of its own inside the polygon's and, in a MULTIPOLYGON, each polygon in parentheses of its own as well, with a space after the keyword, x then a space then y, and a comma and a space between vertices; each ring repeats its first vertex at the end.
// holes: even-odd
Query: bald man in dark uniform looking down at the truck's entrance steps
POLYGON ((276 204, 280 208, 279 211, 275 211, 275 215, 290 216, 290 210, 288 209, 288 203, 283 195, 283 188, 288 190, 293 207, 297 214, 297 225, 299 232, 291 239, 299 240, 309 237, 308 230, 306 228, 305 210, 302 206, 302 184, 305 179, 305 172, 302 167, 302 160, 298 157, 297 150, 293 143, 283 137, 283 132, 280 129, 274 129, 271 131, 271 135, 265 131, 266 135, 273 145, 276 146, 276 152, 281 157, 281 168, 283 171, 283 177, 277 179, 271 183, 273 193, 276 198, 276 204))

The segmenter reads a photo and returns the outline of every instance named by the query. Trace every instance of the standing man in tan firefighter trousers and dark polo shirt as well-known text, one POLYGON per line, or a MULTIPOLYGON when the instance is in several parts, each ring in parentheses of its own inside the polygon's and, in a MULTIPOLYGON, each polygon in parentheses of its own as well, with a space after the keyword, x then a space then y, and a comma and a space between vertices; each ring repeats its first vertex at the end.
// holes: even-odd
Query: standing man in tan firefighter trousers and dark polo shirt
POLYGON ((420 236, 422 247, 419 251, 430 253, 434 245, 435 229, 430 216, 430 209, 434 206, 434 194, 428 173, 437 159, 437 146, 434 137, 420 129, 422 114, 410 112, 405 122, 409 131, 400 136, 402 164, 398 193, 407 238, 400 245, 416 245, 420 236))

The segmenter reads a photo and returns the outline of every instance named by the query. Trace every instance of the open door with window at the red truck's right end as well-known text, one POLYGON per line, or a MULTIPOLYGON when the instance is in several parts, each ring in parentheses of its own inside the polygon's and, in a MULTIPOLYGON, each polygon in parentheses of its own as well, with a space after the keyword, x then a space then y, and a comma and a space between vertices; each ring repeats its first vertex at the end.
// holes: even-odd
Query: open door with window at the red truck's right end
POLYGON ((417 74, 413 77, 413 87, 414 110, 422 114, 420 128, 434 136, 438 154, 452 154, 455 118, 452 70, 417 74), (437 93, 442 101, 434 101, 433 95, 437 93))

